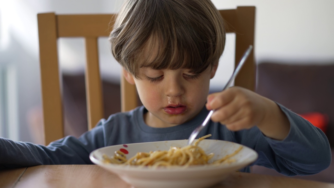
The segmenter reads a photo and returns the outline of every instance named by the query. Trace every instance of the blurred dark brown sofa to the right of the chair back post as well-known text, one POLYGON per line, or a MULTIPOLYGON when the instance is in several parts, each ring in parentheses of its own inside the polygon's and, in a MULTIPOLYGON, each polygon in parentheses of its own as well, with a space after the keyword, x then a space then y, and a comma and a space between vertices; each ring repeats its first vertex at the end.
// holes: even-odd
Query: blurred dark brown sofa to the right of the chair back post
MULTIPOLYGON (((257 73, 257 93, 299 114, 326 114, 328 125, 325 133, 331 146, 334 146, 334 63, 301 65, 299 62, 263 62, 258 65, 257 73)), ((282 176, 265 167, 254 166, 252 170, 253 173, 282 176)), ((316 175, 295 178, 334 183, 334 164, 316 175)))

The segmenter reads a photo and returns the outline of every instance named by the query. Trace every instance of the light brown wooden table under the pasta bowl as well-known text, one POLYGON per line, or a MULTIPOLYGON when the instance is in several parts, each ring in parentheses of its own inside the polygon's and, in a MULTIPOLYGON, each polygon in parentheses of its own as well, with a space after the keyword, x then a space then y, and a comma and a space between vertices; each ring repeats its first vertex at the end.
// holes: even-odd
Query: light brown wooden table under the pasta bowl
MULTIPOLYGON (((41 165, 0 170, 1 188, 133 188, 113 173, 97 165, 41 165)), ((211 188, 334 188, 334 184, 290 177, 233 172, 211 188)))

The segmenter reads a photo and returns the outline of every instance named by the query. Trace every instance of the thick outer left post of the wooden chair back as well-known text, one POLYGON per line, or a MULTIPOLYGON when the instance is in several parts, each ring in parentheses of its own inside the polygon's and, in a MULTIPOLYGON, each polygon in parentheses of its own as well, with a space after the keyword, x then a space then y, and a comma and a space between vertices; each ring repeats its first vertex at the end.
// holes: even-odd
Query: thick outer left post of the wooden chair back
POLYGON ((37 14, 43 104, 44 144, 62 138, 63 113, 59 85, 56 16, 37 14))

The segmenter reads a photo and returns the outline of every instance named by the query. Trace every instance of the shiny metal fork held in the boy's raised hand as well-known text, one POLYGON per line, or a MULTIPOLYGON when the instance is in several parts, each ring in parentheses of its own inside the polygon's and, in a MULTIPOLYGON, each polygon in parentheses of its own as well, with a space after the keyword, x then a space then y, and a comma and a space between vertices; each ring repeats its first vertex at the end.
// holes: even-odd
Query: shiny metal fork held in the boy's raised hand
MULTIPOLYGON (((243 54, 238 66, 235 68, 232 76, 229 78, 228 82, 226 83, 226 85, 224 86, 223 90, 224 91, 226 88, 228 88, 230 86, 230 84, 232 83, 233 79, 236 77, 236 75, 239 73, 241 67, 243 66, 244 62, 246 61, 247 57, 249 56, 249 54, 251 53, 253 49, 253 45, 249 45, 248 49, 246 50, 246 52, 243 54)), ((215 110, 211 110, 209 112, 209 114, 206 116, 205 120, 203 121, 203 123, 201 125, 199 125, 197 128, 195 128, 188 139, 188 145, 192 145, 192 143, 194 142, 194 139, 196 138, 196 136, 198 135, 198 133, 207 125, 207 123, 209 122, 212 113, 215 110)))

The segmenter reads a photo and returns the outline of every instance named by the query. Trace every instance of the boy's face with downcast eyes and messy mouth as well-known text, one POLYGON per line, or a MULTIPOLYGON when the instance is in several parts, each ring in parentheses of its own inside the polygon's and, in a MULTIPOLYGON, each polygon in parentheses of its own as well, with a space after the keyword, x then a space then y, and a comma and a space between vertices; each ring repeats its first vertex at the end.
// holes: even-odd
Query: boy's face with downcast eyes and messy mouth
POLYGON ((151 127, 170 127, 195 117, 204 107, 209 92, 209 82, 217 66, 209 66, 200 74, 187 69, 153 70, 140 68, 139 78, 125 71, 148 113, 145 123, 151 127))

